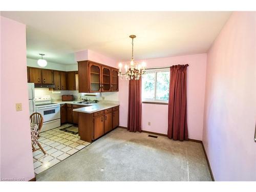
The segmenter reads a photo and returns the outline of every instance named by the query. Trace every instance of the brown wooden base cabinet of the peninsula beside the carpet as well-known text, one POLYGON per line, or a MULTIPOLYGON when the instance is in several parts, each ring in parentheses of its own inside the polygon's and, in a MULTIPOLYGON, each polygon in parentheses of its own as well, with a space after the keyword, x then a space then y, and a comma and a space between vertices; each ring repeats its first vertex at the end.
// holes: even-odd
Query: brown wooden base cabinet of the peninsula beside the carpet
POLYGON ((95 113, 78 112, 79 136, 83 141, 92 142, 118 125, 119 106, 95 113))

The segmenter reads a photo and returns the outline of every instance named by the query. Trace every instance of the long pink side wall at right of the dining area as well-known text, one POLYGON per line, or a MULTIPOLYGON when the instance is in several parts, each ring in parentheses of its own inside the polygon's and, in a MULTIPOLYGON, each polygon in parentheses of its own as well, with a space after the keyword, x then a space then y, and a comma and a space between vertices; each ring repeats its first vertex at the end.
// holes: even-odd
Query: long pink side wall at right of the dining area
POLYGON ((255 12, 234 12, 207 53, 203 143, 217 181, 256 181, 255 12))

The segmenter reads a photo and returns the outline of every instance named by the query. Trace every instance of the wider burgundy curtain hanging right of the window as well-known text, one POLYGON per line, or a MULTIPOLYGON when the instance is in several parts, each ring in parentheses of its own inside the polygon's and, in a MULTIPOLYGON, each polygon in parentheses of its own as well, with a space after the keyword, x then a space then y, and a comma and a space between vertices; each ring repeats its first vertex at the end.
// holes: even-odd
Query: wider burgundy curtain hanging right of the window
POLYGON ((167 136, 174 140, 188 140, 187 133, 187 86, 188 65, 170 67, 167 136))

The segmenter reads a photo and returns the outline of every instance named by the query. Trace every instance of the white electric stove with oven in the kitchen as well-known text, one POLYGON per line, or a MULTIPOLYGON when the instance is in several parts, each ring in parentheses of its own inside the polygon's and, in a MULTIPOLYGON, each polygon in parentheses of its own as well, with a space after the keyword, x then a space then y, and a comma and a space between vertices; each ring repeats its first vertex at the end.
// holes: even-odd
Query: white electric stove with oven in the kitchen
POLYGON ((41 132, 60 126, 60 105, 51 102, 50 95, 36 96, 35 110, 44 118, 41 132))

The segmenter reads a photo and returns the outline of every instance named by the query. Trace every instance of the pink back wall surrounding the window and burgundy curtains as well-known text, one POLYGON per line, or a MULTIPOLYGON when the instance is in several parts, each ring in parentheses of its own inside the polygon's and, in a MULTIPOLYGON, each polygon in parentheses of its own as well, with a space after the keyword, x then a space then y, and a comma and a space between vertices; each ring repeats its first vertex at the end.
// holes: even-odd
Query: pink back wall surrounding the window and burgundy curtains
MULTIPOLYGON (((187 70, 187 121, 190 139, 202 140, 206 54, 147 59, 147 67, 189 64, 187 70)), ((119 80, 120 126, 127 126, 129 81, 119 80)), ((167 134, 168 105, 142 104, 142 130, 167 134), (150 121, 151 125, 147 125, 150 121)))

